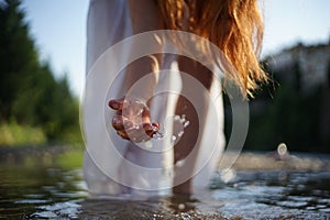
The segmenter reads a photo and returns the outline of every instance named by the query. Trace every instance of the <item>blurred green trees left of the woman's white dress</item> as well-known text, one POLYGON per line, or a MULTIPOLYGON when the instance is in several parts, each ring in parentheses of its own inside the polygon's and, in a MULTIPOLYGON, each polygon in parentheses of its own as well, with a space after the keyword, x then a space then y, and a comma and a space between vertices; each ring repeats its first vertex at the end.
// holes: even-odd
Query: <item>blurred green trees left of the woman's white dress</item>
POLYGON ((55 78, 40 61, 20 6, 0 3, 0 123, 40 128, 47 142, 81 143, 78 100, 67 77, 55 78))

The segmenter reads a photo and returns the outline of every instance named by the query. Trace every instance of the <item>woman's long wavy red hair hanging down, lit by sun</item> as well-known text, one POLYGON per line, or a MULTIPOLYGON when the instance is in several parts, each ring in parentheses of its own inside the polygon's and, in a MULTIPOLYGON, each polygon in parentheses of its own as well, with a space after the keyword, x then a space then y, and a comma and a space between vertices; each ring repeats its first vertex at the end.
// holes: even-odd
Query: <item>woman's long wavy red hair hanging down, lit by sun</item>
POLYGON ((258 56, 264 24, 257 0, 156 0, 164 25, 216 44, 237 69, 230 76, 244 96, 267 81, 258 56))

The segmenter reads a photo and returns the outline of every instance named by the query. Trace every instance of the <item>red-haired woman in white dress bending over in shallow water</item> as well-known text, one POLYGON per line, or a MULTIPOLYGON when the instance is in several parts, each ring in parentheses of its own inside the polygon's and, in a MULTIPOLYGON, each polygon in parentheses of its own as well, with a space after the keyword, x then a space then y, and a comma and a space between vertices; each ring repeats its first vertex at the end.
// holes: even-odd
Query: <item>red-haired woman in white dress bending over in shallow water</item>
MULTIPOLYGON (((219 94, 221 85, 210 68, 182 53, 187 46, 180 37, 169 37, 176 54, 162 53, 167 43, 161 30, 188 32, 218 46, 237 69, 233 73, 228 68, 224 76, 233 79, 245 98, 252 97, 258 81, 267 80, 257 61, 263 22, 256 0, 91 0, 87 84, 92 81, 90 84, 96 86, 86 87, 87 97, 98 96, 97 85, 102 82, 92 77, 94 73, 107 73, 106 77, 114 75, 107 62, 114 62, 116 66, 116 62, 128 61, 108 89, 107 100, 111 100, 112 111, 106 110, 106 123, 113 127, 108 129, 110 142, 101 141, 108 138, 98 125, 103 116, 89 110, 88 101, 85 103, 84 175, 92 195, 152 196, 166 194, 168 188, 191 194, 208 184, 217 166, 224 146, 222 99, 218 97, 213 101, 209 92, 197 87, 201 85, 212 96, 219 94), (139 41, 128 41, 125 53, 117 53, 107 61, 105 54, 110 53, 107 50, 114 48, 111 46, 116 43, 155 30, 160 30, 152 32, 156 33, 158 45, 141 46, 139 41), (134 52, 145 47, 153 47, 154 53, 131 59, 134 52), (163 73, 164 69, 170 69, 169 74, 163 73), (143 82, 139 86, 139 81, 143 82), (179 89, 173 88, 176 81, 180 81, 179 89), (131 95, 134 99, 119 99, 131 95), (136 106, 142 113, 138 118, 132 113, 136 106), (212 125, 215 117, 218 119, 216 128, 212 125), (155 135, 161 136, 161 141, 153 139, 155 135), (94 138, 97 142, 91 141, 94 138)), ((193 47, 198 47, 201 41, 195 38, 193 42, 197 43, 193 47)), ((212 65, 217 64, 208 50, 201 47, 198 53, 212 65)))

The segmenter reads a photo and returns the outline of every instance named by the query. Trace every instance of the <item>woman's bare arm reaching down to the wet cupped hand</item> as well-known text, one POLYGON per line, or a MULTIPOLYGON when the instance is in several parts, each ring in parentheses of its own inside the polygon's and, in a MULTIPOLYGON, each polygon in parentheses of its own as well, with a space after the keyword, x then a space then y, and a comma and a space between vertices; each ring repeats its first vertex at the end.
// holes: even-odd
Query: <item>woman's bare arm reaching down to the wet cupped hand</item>
MULTIPOLYGON (((163 29, 160 9, 153 0, 128 0, 128 4, 134 34, 163 29)), ((162 46, 161 43, 158 45, 140 45, 139 42, 133 41, 131 55, 135 54, 136 50, 144 50, 145 47, 148 47, 148 51, 162 51, 162 46), (150 48, 151 46, 154 48, 150 48)), ((154 54, 131 63, 125 72, 123 94, 133 95, 145 100, 151 98, 157 84, 161 56, 162 54, 154 54)))

